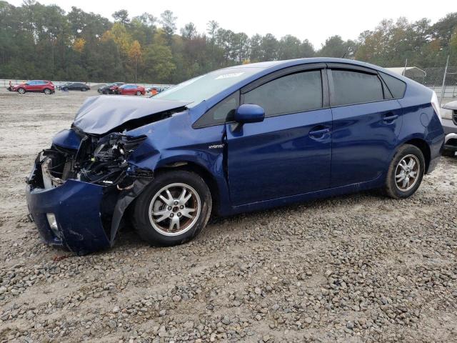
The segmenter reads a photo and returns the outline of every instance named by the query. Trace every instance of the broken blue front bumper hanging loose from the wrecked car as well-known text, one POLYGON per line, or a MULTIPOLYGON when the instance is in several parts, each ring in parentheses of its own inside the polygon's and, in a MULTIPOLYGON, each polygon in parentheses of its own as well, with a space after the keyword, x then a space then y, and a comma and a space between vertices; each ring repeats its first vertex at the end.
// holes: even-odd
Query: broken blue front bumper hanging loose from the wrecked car
POLYGON ((58 179, 56 183, 55 178, 49 181, 49 166, 43 168, 44 162, 39 154, 26 181, 29 213, 41 239, 76 254, 112 247, 124 211, 151 179, 135 179, 133 187, 121 191, 76 179, 58 179), (49 215, 54 216, 54 228, 49 215))

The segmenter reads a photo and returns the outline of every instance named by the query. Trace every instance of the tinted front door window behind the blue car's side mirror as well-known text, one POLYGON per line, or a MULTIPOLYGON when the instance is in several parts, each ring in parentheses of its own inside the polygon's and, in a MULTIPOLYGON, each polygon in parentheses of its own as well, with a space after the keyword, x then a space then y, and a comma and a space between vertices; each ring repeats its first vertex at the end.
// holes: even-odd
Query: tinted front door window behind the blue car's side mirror
POLYGON ((321 70, 279 77, 243 94, 244 104, 263 107, 265 116, 292 114, 322 107, 321 70))

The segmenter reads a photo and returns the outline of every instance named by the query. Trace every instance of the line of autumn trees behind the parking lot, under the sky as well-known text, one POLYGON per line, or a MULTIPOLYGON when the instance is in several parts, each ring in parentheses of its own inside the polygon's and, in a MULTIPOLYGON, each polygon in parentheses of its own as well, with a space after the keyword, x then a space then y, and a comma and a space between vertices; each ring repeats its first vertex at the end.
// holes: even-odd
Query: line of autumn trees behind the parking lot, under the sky
MULTIPOLYGON (((112 20, 76 6, 25 0, 0 1, 0 79, 138 81, 175 84, 236 64, 313 56, 346 57, 381 66, 428 66, 450 56, 457 64, 457 12, 429 19, 383 20, 358 39, 335 35, 316 49, 307 39, 224 29, 209 21, 205 32, 176 16, 116 11, 112 20)), ((441 62, 442 63, 442 62, 441 62)))

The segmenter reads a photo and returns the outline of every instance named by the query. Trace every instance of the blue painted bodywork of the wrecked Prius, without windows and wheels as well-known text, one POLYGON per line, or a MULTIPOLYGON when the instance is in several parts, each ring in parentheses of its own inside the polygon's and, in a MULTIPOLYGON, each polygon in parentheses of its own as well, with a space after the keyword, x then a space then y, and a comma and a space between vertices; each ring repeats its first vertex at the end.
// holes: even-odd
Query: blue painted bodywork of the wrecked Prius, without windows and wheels
MULTIPOLYGON (((382 187, 390 161, 406 142, 423 144, 426 172, 436 166, 444 134, 431 106, 430 89, 378 66, 346 59, 298 59, 248 67, 258 72, 199 104, 154 98, 89 98, 76 116, 75 128, 59 132, 53 144, 77 150, 81 132, 102 136, 137 121, 138 126, 124 128, 128 136, 145 137, 129 156, 129 172, 191 165, 211 186, 214 207, 221 215, 382 187), (214 105, 263 76, 305 64, 325 69, 331 63, 382 71, 404 81, 406 92, 401 99, 328 105, 241 126, 227 122, 193 127, 214 105), (164 111, 173 114, 154 119, 164 111)), ((103 196, 104 187, 72 179, 55 189, 27 188, 29 210, 44 241, 76 252, 95 251, 113 242, 100 220, 103 196), (56 214, 60 238, 49 229, 49 212, 56 214)), ((119 219, 122 212, 116 215, 119 219)))

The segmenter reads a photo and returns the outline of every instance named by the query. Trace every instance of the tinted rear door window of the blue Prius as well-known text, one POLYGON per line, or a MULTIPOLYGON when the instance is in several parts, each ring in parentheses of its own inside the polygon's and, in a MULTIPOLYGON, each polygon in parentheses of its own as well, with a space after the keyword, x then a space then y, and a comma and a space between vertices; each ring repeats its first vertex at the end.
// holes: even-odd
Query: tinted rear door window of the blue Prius
POLYGON ((382 101, 383 86, 376 74, 332 69, 333 94, 331 106, 382 101))

